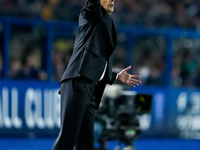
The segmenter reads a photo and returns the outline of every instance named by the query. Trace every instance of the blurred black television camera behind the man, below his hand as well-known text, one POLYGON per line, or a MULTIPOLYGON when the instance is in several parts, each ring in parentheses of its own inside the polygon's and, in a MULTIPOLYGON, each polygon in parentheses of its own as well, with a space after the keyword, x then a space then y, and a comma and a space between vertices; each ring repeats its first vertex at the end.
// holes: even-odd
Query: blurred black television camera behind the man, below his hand
POLYGON ((120 150, 121 143, 125 143, 123 150, 135 150, 133 142, 140 138, 139 115, 152 112, 152 95, 123 91, 112 95, 112 91, 105 92, 100 108, 97 112, 97 121, 104 126, 98 142, 98 150, 108 150, 107 142, 117 139, 120 150))

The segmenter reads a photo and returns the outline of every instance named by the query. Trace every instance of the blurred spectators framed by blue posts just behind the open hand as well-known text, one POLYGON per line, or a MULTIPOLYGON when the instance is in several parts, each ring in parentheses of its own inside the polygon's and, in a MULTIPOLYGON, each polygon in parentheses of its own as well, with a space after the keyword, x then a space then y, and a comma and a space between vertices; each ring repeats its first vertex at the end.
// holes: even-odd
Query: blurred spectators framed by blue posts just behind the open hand
POLYGON ((162 36, 138 37, 133 53, 134 74, 139 74, 142 85, 167 85, 166 39, 162 36))

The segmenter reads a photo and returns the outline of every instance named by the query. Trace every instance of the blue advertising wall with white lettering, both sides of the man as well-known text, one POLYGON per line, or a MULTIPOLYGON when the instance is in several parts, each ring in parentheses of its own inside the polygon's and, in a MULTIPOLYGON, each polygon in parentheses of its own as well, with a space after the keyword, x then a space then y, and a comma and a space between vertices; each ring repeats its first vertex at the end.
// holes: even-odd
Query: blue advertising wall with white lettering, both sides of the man
MULTIPOLYGON (((1 81, 1 136, 56 136, 59 131, 59 84, 1 81)), ((142 137, 199 139, 200 90, 138 87, 153 95, 152 114, 141 115, 142 137)))

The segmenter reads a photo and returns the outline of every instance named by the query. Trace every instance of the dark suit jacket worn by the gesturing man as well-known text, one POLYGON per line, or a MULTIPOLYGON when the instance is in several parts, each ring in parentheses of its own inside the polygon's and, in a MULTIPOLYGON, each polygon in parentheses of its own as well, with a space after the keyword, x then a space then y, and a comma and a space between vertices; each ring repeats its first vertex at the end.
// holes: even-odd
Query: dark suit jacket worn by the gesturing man
POLYGON ((97 108, 106 83, 113 84, 117 75, 112 72, 116 37, 113 20, 100 0, 87 0, 79 16, 73 54, 61 82, 82 75, 97 83, 107 62, 105 82, 98 85, 96 94, 97 108))

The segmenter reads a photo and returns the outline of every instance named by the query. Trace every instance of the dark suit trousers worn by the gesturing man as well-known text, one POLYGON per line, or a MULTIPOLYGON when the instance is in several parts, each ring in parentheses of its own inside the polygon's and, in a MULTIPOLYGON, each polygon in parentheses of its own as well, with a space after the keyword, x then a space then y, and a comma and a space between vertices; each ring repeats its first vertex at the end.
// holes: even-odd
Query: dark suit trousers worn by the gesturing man
POLYGON ((93 150, 95 89, 82 77, 61 83, 61 129, 52 150, 93 150))

